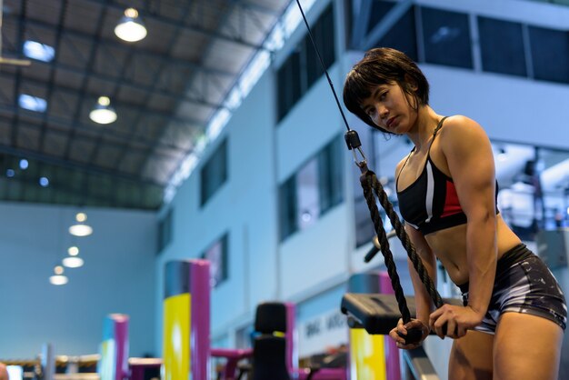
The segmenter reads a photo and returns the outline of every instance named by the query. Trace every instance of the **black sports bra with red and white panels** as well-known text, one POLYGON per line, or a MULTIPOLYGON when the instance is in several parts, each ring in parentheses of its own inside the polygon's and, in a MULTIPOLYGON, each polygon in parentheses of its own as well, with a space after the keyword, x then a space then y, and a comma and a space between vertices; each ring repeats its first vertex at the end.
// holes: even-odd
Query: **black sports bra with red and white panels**
MULTIPOLYGON (((434 129, 433 141, 437 132, 443 126, 444 119, 446 119, 446 116, 441 119, 434 129)), ((433 145, 433 141, 431 141, 431 145, 429 145, 427 159, 424 163, 421 175, 419 175, 413 184, 407 186, 402 191, 397 191, 399 210, 405 222, 421 231, 424 235, 466 223, 466 215, 458 200, 453 178, 441 172, 431 160, 431 146, 433 145)), ((413 152, 414 148, 411 153, 413 152)), ((399 175, 401 175, 411 153, 409 153, 404 165, 397 174, 396 186, 398 186, 399 175)), ((495 194, 497 202, 497 182, 495 194)), ((496 214, 497 213, 498 208, 496 204, 496 214)))

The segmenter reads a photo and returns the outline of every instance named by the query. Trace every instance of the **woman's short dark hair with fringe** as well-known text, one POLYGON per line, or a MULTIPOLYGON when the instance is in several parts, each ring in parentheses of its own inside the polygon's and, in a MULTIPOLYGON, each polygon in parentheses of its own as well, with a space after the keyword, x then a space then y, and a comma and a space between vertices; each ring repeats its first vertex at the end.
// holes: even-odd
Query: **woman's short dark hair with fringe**
POLYGON ((344 81, 344 105, 365 124, 389 133, 375 125, 362 109, 364 99, 372 95, 378 85, 399 85, 404 93, 412 95, 415 105, 429 104, 429 83, 411 58, 399 50, 377 47, 365 53, 352 67, 344 81))

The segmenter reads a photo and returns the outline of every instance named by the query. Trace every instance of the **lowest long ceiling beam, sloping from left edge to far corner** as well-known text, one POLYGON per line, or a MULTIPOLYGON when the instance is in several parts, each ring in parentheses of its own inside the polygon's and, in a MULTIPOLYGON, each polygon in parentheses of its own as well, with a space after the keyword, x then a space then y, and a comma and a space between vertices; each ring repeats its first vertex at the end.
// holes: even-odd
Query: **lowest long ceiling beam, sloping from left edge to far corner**
POLYGON ((112 176, 114 178, 124 179, 126 181, 133 181, 133 182, 143 184, 143 185, 154 185, 154 186, 159 186, 162 188, 165 187, 165 184, 162 184, 160 182, 156 182, 152 179, 143 178, 143 177, 140 177, 138 175, 129 175, 129 174, 124 173, 124 172, 119 172, 116 170, 109 170, 109 169, 106 169, 106 168, 103 168, 100 166, 83 165, 83 164, 80 164, 80 163, 77 163, 74 161, 69 161, 69 160, 66 160, 63 158, 58 158, 58 157, 55 157, 53 155, 45 155, 42 153, 38 153, 34 150, 15 148, 13 146, 0 144, 0 153, 4 153, 6 155, 15 155, 15 156, 26 157, 28 159, 34 159, 34 160, 43 162, 45 164, 65 167, 67 169, 79 170, 79 171, 82 171, 82 172, 87 173, 87 174, 109 175, 109 176, 112 176))

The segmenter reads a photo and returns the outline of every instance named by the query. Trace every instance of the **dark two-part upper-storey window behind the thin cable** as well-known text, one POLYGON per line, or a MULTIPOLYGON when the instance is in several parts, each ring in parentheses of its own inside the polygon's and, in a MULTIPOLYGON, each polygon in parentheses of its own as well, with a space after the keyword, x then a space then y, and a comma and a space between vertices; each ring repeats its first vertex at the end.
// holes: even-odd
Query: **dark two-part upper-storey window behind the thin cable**
MULTIPOLYGON (((314 43, 318 46, 324 66, 329 68, 335 61, 334 12, 328 6, 311 27, 314 43)), ((324 74, 318 55, 309 35, 296 46, 276 72, 277 118, 282 120, 296 102, 324 74)))

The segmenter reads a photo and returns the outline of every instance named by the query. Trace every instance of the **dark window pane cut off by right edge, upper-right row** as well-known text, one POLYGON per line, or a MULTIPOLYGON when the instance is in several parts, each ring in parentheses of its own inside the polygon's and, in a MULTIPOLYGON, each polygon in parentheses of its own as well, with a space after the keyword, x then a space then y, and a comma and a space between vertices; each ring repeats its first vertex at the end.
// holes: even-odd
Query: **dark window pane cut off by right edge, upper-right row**
POLYGON ((567 32, 529 26, 535 79, 569 83, 567 32))

